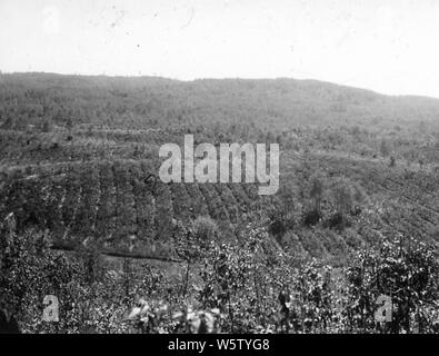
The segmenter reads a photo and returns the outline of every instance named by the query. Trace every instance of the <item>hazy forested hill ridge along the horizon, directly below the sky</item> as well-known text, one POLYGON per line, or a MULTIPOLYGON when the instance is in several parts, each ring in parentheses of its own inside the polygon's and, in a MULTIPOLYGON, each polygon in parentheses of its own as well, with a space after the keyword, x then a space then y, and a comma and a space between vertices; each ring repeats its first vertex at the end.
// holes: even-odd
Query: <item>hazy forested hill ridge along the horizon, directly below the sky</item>
POLYGON ((123 128, 171 122, 246 122, 285 130, 297 125, 405 125, 439 121, 439 99, 389 97, 316 80, 0 75, 3 128, 99 123, 123 128), (33 122, 29 122, 33 121, 33 122))

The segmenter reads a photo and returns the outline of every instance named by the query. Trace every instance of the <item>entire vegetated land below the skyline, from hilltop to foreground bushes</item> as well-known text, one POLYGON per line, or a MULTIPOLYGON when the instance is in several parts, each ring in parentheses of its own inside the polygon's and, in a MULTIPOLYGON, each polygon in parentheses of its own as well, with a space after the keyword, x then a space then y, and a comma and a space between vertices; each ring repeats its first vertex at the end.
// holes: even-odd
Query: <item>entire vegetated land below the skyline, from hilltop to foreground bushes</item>
POLYGON ((27 333, 437 333, 438 112, 316 81, 0 75, 0 308, 27 333), (184 134, 278 142, 279 191, 162 184, 184 134))

